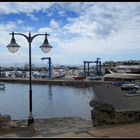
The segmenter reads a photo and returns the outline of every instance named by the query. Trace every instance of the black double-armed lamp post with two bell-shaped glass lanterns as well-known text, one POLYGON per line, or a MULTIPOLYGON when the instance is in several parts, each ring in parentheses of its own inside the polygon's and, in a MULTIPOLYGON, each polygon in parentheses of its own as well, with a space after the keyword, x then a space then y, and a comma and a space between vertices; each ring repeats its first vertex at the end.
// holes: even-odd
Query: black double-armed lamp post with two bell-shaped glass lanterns
POLYGON ((12 35, 12 39, 11 39, 11 42, 9 45, 7 45, 6 47, 8 48, 8 50, 12 53, 15 53, 18 51, 19 49, 19 45, 16 43, 15 41, 15 38, 14 38, 14 35, 21 35, 21 36, 24 36, 28 43, 29 43, 29 117, 28 117, 28 126, 30 126, 31 124, 34 123, 34 118, 33 118, 33 115, 32 115, 32 78, 31 78, 31 72, 32 72, 32 68, 31 68, 31 43, 33 41, 33 39, 37 36, 40 36, 40 35, 43 35, 45 36, 45 40, 44 40, 44 43, 40 46, 41 50, 44 52, 44 53, 48 53, 52 46, 50 46, 49 42, 48 42, 48 39, 47 39, 47 36, 49 34, 45 33, 45 34, 36 34, 34 36, 31 36, 31 33, 29 32, 29 36, 26 36, 25 34, 22 34, 22 33, 9 33, 10 35, 12 35))

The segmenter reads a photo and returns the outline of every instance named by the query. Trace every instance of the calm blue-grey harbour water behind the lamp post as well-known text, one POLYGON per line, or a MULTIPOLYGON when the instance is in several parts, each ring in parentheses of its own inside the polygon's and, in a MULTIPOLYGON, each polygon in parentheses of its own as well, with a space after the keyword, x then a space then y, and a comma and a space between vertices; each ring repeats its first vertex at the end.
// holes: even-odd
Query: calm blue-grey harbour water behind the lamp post
MULTIPOLYGON (((29 85, 5 83, 0 90, 0 114, 12 120, 29 116, 29 85)), ((33 116, 39 118, 82 117, 91 120, 89 101, 94 98, 91 88, 56 85, 32 85, 33 116)))

